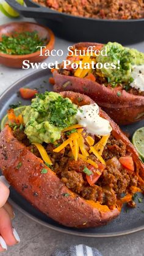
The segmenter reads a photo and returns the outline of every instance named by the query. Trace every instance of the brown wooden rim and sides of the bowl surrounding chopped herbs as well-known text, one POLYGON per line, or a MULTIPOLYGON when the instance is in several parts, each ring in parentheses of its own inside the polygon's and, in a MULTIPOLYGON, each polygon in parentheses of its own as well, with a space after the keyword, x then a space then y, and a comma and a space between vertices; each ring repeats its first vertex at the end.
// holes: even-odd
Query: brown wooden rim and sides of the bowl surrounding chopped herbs
POLYGON ((40 38, 48 38, 48 45, 46 48, 43 48, 43 56, 40 56, 40 51, 31 54, 24 55, 10 55, 0 52, 0 63, 12 68, 22 68, 23 60, 29 60, 29 62, 42 62, 47 59, 48 56, 45 56, 46 49, 51 51, 54 48, 55 37, 51 29, 45 26, 41 26, 37 23, 30 22, 13 22, 0 26, 0 41, 2 35, 12 35, 13 32, 33 32, 37 31, 40 38))

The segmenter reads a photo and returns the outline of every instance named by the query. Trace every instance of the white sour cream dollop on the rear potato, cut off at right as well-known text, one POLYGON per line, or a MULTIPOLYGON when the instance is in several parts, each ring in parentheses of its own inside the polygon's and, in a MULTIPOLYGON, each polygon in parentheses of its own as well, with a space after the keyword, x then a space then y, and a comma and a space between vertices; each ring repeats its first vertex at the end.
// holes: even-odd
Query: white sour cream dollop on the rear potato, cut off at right
POLYGON ((134 79, 131 82, 130 86, 139 89, 140 92, 144 91, 144 65, 134 65, 132 67, 132 78, 134 79))

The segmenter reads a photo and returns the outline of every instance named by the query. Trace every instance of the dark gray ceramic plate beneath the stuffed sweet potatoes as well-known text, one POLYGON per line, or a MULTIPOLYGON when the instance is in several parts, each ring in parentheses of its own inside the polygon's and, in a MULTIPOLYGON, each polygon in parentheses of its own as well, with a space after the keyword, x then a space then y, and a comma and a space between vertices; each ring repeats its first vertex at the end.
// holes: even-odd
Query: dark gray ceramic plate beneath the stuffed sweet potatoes
MULTIPOLYGON (((9 109, 9 104, 21 101, 22 104, 29 104, 29 100, 22 100, 18 96, 18 89, 20 87, 37 87, 39 92, 45 92, 45 90, 52 90, 52 86, 49 85, 49 76, 51 73, 49 70, 42 70, 32 73, 13 84, 9 89, 7 89, 0 97, 0 119, 5 115, 7 109, 9 109)), ((122 127, 124 131, 128 131, 131 135, 134 131, 144 126, 144 121, 135 123, 134 125, 129 125, 122 127)), ((142 197, 138 195, 137 199, 142 197)), ((118 236, 126 235, 129 233, 137 232, 144 229, 144 203, 139 203, 137 201, 137 208, 129 209, 124 207, 121 211, 120 216, 117 219, 110 222, 104 227, 98 227, 95 229, 70 229, 68 227, 63 227, 57 224, 57 222, 42 214, 40 211, 36 210, 32 205, 27 202, 23 197, 21 197, 13 188, 10 188, 10 200, 12 200, 13 205, 15 205, 18 210, 26 214, 29 218, 34 219, 38 223, 45 225, 54 230, 58 230, 63 233, 68 233, 71 235, 78 236, 89 236, 89 237, 106 237, 106 236, 118 236)))

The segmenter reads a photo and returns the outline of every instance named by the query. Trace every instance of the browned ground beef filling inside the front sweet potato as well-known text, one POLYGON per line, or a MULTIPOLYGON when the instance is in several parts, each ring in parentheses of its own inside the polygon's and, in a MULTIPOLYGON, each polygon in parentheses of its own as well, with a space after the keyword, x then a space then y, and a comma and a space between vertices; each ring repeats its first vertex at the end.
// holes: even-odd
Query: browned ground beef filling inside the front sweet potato
MULTIPOLYGON (((27 143, 29 140, 26 134, 24 134, 24 130, 16 128, 13 131, 13 135, 18 141, 25 144, 34 155, 41 158, 37 147, 31 145, 30 142, 27 143)), ((60 140, 56 144, 43 144, 43 147, 45 147, 49 158, 51 158, 52 170, 56 172, 60 180, 71 191, 76 192, 86 200, 99 201, 102 205, 107 205, 110 208, 117 203, 118 198, 121 198, 121 194, 128 192, 131 186, 137 186, 137 176, 133 172, 129 172, 118 161, 121 156, 128 154, 126 144, 120 139, 115 139, 112 135, 109 137, 103 151, 103 159, 106 161, 106 167, 104 167, 101 177, 99 177, 93 186, 89 185, 83 172, 85 167, 90 168, 90 164, 85 163, 80 158, 74 161, 69 145, 59 153, 53 152, 57 144, 62 143, 66 139, 67 135, 62 133, 60 140)), ((95 137, 95 141, 99 141, 98 137, 95 137)), ((95 155, 91 154, 90 159, 98 163, 95 155)), ((129 203, 129 207, 134 207, 134 203, 129 203)))

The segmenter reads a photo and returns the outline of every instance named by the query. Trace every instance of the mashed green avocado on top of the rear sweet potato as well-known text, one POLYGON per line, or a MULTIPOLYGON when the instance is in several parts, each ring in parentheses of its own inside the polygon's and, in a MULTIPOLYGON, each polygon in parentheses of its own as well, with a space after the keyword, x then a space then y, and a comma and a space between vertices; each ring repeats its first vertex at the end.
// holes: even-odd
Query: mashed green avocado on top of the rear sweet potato
POLYGON ((96 57, 96 61, 103 64, 106 62, 109 64, 114 63, 117 67, 115 69, 106 69, 104 67, 101 69, 103 75, 108 78, 108 82, 131 82, 132 65, 144 64, 144 53, 140 53, 137 49, 126 48, 116 42, 109 42, 102 49, 105 47, 107 47, 107 56, 100 54, 96 57), (120 60, 119 69, 118 60, 120 60))

